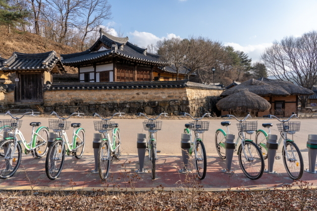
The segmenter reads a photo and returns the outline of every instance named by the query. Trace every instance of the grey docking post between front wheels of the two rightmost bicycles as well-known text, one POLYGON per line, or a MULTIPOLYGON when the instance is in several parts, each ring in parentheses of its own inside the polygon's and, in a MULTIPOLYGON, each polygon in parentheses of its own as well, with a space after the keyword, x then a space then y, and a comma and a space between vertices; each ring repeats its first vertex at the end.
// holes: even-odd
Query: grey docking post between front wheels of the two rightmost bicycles
POLYGON ((265 173, 275 174, 277 173, 273 170, 273 165, 275 161, 276 151, 278 149, 277 135, 269 134, 267 136, 266 148, 267 148, 267 169, 264 170, 265 173))

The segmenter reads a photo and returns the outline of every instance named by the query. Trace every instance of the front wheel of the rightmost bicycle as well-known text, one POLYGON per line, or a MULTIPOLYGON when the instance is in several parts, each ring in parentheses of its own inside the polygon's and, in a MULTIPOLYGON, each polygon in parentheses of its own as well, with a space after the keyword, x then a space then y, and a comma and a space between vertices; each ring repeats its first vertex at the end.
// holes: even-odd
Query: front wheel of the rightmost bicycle
POLYGON ((294 180, 298 180, 302 177, 304 172, 304 162, 302 153, 299 151, 298 146, 293 141, 286 142, 286 152, 288 154, 289 159, 287 159, 285 149, 283 146, 282 155, 285 169, 289 177, 291 177, 294 180))

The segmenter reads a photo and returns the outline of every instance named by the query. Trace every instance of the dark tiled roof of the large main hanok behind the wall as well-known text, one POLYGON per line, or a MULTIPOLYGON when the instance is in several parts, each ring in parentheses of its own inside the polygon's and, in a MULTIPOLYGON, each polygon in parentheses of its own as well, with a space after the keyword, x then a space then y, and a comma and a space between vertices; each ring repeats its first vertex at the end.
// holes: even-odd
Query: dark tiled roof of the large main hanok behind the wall
POLYGON ((127 59, 137 60, 145 63, 152 63, 157 65, 164 64, 164 62, 159 60, 159 55, 148 53, 146 52, 146 49, 135 46, 134 44, 128 42, 128 37, 117 38, 107 33, 103 34, 101 38, 97 42, 95 42, 93 46, 91 46, 88 50, 80 53, 61 54, 61 57, 63 58, 62 63, 64 65, 76 66, 87 61, 96 62, 99 60, 103 60, 106 57, 112 55, 117 55, 125 57, 127 59), (106 44, 107 46, 115 45, 116 47, 115 49, 92 52, 96 46, 99 46, 100 42, 106 44))

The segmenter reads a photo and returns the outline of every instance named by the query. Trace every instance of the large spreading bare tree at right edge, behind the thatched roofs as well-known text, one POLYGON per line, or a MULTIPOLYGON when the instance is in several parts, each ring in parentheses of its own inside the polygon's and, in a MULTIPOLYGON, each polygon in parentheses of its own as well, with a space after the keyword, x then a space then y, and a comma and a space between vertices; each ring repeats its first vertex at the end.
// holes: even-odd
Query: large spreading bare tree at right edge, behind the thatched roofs
MULTIPOLYGON (((268 72, 279 80, 312 89, 317 83, 317 31, 301 37, 285 37, 266 48, 261 55, 268 72)), ((308 96, 300 96, 302 107, 308 96)))

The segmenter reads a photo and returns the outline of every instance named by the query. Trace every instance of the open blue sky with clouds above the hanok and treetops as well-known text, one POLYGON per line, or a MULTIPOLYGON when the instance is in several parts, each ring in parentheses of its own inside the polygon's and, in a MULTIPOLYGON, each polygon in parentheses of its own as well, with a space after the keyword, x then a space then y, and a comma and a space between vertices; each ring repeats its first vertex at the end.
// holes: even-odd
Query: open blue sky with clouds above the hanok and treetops
POLYGON ((275 40, 317 30, 317 0, 108 0, 111 34, 147 46, 164 38, 208 37, 260 61, 275 40))

